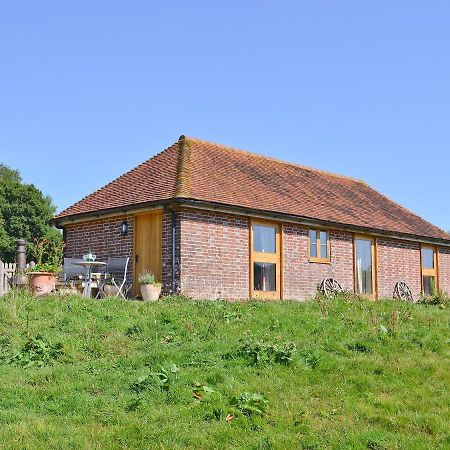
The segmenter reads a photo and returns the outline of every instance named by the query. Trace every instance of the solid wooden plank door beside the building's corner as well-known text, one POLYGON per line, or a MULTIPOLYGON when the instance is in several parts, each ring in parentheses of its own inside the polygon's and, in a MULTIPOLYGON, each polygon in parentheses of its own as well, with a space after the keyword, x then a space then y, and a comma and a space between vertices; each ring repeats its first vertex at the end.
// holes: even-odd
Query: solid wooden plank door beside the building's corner
POLYGON ((139 275, 152 272, 161 281, 162 211, 134 217, 134 295, 140 295, 139 275))

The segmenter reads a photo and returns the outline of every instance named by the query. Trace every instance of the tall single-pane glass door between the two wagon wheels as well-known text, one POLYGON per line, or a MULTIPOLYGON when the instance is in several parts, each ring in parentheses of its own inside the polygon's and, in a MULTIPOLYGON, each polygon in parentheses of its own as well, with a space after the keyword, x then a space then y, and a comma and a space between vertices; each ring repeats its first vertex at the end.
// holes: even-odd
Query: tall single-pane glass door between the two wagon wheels
POLYGON ((375 299, 375 241, 370 237, 355 236, 354 249, 356 293, 375 299))

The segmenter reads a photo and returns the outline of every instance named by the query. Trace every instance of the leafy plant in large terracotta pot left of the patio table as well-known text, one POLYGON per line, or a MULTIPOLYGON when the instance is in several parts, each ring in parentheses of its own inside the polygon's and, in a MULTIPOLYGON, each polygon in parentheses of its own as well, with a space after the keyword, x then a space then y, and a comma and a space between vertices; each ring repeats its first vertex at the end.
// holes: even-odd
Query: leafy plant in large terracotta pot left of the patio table
POLYGON ((29 284, 33 295, 42 297, 55 289, 58 273, 61 271, 63 243, 48 238, 35 239, 34 253, 37 263, 28 272, 29 284))

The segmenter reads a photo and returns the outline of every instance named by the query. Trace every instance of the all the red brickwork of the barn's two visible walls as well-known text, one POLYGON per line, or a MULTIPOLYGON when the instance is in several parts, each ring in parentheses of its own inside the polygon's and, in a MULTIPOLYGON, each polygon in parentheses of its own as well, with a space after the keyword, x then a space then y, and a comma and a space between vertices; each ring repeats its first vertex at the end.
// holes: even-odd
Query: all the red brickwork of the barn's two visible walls
MULTIPOLYGON (((199 299, 247 299, 249 296, 248 219, 206 211, 176 211, 176 292, 199 299)), ((163 292, 172 288, 171 212, 162 218, 163 292)), ((65 227, 67 257, 81 257, 88 249, 100 260, 133 254, 133 218, 117 216, 69 224, 65 227), (128 220, 127 236, 120 224, 128 220)), ((283 227, 283 298, 305 300, 317 284, 333 277, 345 290, 353 290, 353 236, 331 232, 331 264, 310 263, 306 227, 283 227)), ((391 298, 400 279, 415 298, 421 290, 420 244, 393 239, 377 240, 378 293, 391 298)), ((132 264, 129 266, 132 279, 132 264)), ((450 249, 439 250, 439 287, 450 293, 450 249)))

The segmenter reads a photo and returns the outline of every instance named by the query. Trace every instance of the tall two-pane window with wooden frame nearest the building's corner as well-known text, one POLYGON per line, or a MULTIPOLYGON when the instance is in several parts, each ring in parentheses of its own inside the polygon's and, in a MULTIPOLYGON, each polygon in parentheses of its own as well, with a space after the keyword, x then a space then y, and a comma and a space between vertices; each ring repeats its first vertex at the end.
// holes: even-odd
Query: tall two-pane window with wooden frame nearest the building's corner
POLYGON ((280 225, 252 221, 250 291, 253 298, 280 298, 280 225))

